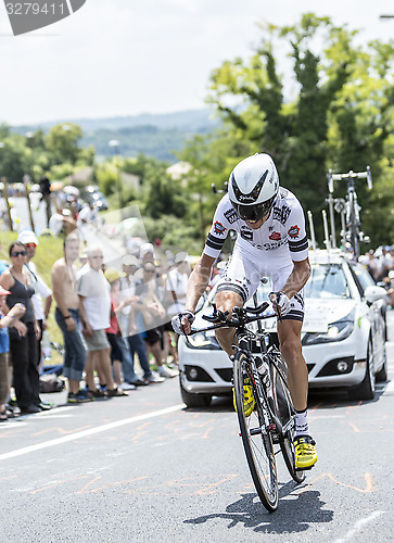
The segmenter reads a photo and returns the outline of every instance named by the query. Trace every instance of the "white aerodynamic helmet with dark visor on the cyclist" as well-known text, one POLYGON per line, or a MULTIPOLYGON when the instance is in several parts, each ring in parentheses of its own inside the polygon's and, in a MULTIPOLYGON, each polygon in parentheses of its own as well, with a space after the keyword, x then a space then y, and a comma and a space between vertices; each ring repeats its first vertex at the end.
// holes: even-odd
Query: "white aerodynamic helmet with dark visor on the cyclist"
POLYGON ((228 193, 237 214, 244 220, 259 220, 272 209, 279 191, 279 176, 269 154, 247 156, 233 168, 228 193))

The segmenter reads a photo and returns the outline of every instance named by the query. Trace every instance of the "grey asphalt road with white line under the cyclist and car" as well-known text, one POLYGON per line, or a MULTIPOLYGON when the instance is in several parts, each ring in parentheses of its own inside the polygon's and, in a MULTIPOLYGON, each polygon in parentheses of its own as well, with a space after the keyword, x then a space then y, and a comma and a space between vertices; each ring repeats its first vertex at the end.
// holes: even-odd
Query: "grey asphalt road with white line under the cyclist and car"
POLYGON ((187 409, 177 379, 128 397, 0 425, 0 541, 392 541, 394 312, 390 377, 372 402, 314 394, 319 459, 297 485, 278 457, 279 508, 256 497, 231 401, 187 409))

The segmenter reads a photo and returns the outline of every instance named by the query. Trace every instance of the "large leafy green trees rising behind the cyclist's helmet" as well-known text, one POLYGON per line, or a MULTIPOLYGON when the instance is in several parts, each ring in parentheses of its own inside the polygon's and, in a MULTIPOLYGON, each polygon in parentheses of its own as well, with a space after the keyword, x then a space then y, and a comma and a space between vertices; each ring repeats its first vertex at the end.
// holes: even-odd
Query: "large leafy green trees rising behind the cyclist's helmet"
MULTIPOLYGON (((336 27, 329 17, 313 13, 294 26, 264 25, 262 34, 249 59, 226 61, 212 74, 208 101, 226 128, 215 141, 191 141, 181 154, 183 160, 191 157, 190 188, 199 176, 205 189, 203 179, 214 175, 225 181, 234 163, 253 152, 268 152, 281 182, 306 210, 320 214, 326 206, 328 169, 364 171, 369 164, 376 188, 370 195, 360 189, 368 217, 381 178, 389 179, 384 187, 393 179, 391 173, 384 174, 391 166, 382 162, 393 128, 393 42, 357 45, 357 30, 336 27), (285 62, 275 55, 283 47, 288 49, 285 62), (284 75, 279 65, 287 66, 284 75), (204 141, 207 149, 202 152, 204 141), (219 141, 221 150, 231 153, 220 164, 213 156, 219 141), (201 167, 204 162, 208 164, 205 169, 201 167)), ((385 205, 393 207, 394 192, 382 191, 389 197, 385 205)), ((368 233, 380 242, 386 232, 369 215, 372 231, 368 233)))

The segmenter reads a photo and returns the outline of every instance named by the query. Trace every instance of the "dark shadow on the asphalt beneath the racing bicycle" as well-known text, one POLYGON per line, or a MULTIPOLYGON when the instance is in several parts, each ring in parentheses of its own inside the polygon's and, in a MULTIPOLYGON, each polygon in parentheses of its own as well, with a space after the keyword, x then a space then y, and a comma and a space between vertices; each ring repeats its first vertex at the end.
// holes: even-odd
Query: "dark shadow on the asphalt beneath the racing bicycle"
POLYGON ((298 495, 292 494, 300 487, 290 481, 279 491, 279 506, 276 513, 268 513, 260 504, 255 493, 242 494, 237 502, 228 505, 224 513, 213 513, 192 519, 185 523, 201 525, 213 519, 228 520, 228 529, 242 523, 244 528, 252 528, 256 533, 285 534, 303 532, 314 522, 331 522, 332 510, 323 510, 326 502, 320 500, 320 492, 308 490, 298 495), (290 496, 289 500, 283 500, 290 496))

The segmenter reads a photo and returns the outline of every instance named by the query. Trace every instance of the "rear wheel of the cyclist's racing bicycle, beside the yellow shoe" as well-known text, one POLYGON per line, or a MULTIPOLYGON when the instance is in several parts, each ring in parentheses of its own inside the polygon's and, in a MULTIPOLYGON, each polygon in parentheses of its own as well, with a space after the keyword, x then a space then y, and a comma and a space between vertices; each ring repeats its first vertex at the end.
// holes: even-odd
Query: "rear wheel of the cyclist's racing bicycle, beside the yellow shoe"
POLYGON ((283 382, 285 379, 285 364, 281 357, 276 357, 277 366, 281 375, 277 368, 271 366, 272 368, 272 382, 276 391, 275 399, 275 407, 277 411, 277 416, 282 424, 282 427, 285 427, 290 422, 289 428, 283 432, 282 439, 280 441, 280 449, 282 450, 282 455, 284 459, 284 464, 289 470, 289 473, 294 479, 295 482, 303 482, 305 479, 305 471, 295 469, 295 452, 294 452, 294 407, 293 402, 290 396, 290 391, 283 382), (293 424, 291 421, 293 420, 293 424))

